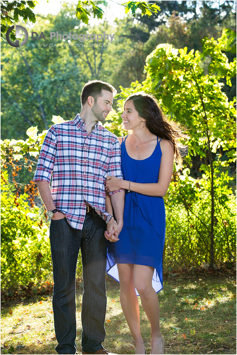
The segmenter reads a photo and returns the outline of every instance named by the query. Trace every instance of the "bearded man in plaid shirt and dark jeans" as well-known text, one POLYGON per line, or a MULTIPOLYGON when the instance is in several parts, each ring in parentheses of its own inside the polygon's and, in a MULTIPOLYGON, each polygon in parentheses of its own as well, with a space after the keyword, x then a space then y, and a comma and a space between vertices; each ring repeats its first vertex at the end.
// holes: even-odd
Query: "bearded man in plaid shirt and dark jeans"
POLYGON ((39 154, 33 181, 51 217, 53 312, 58 354, 75 354, 75 274, 81 249, 83 300, 82 353, 109 354, 105 339, 106 222, 116 241, 123 225, 124 191, 110 193, 117 223, 105 210, 107 175, 122 179, 118 139, 98 121, 111 111, 116 89, 94 80, 81 92, 81 113, 51 126, 39 154), (52 186, 49 182, 52 176, 52 186), (111 223, 112 220, 112 223, 111 223), (106 221, 106 222, 105 222, 106 221))

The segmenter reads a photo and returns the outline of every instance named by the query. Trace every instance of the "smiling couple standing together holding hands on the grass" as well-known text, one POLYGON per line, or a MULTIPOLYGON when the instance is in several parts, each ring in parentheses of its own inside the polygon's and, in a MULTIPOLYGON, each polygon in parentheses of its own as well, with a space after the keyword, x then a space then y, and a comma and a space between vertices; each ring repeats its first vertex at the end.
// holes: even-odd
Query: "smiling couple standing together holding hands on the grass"
POLYGON ((146 354, 139 304, 151 324, 151 354, 164 354, 157 293, 163 288, 165 240, 163 196, 183 130, 168 121, 156 98, 131 94, 121 115, 130 132, 116 137, 104 122, 116 89, 93 80, 81 92, 81 113, 51 126, 33 181, 51 217, 53 312, 58 354, 77 346, 75 275, 83 265, 82 354, 111 354, 105 339, 105 272, 120 282, 120 302, 135 354, 146 354), (51 189, 49 183, 51 181, 51 189))

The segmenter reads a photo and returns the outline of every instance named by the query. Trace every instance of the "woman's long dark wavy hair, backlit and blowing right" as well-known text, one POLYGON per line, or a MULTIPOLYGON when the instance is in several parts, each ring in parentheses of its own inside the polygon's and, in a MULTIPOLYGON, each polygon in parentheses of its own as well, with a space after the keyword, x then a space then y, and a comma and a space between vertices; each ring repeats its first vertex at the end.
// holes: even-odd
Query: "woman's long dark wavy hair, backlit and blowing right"
MULTIPOLYGON (((174 146, 174 158, 176 161, 182 160, 182 151, 186 151, 186 146, 180 142, 188 137, 184 133, 184 127, 176 122, 169 121, 159 107, 157 99, 145 92, 137 92, 128 96, 128 100, 133 101, 133 105, 140 117, 146 120, 146 126, 154 135, 168 139, 174 146)), ((124 104, 124 105, 125 105, 124 104)))

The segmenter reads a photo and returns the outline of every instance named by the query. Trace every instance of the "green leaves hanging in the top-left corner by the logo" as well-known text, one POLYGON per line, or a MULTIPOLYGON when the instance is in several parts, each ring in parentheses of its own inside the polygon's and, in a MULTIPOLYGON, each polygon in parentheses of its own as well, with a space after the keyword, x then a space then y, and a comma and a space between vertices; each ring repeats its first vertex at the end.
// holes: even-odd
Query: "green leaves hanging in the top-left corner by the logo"
MULTIPOLYGON (((3 34, 14 25, 14 22, 19 21, 19 16, 22 17, 25 22, 27 20, 33 23, 36 22, 35 14, 31 10, 36 4, 37 1, 1 1, 1 40, 5 41, 3 34), (28 7, 26 7, 26 4, 28 7), (14 11, 13 17, 9 15, 11 11, 14 11)), ((11 31, 10 38, 13 42, 15 41, 15 30, 11 31)))

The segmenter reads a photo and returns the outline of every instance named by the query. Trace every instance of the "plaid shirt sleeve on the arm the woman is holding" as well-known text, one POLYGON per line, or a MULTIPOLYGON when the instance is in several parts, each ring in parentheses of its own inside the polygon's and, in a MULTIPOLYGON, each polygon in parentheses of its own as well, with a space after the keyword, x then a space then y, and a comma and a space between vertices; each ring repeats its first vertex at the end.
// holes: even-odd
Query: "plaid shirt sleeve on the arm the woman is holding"
MULTIPOLYGON (((111 149, 110 162, 108 166, 108 176, 116 176, 116 178, 123 180, 121 171, 121 149, 118 139, 114 143, 111 149)), ((124 191, 123 189, 110 192, 110 196, 118 191, 124 191)))

